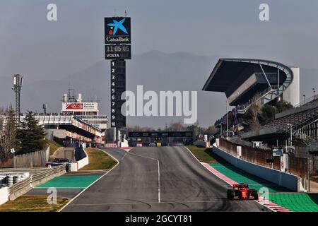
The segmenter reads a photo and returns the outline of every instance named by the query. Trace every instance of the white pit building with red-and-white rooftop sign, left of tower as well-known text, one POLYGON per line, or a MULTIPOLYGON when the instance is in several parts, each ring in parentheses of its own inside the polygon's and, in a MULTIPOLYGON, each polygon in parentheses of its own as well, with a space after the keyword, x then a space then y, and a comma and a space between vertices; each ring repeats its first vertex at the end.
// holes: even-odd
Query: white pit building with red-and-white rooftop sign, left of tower
MULTIPOLYGON (((35 114, 39 124, 64 141, 65 145, 74 143, 105 143, 107 116, 100 115, 98 102, 83 102, 82 95, 75 98, 69 90, 64 94, 61 113, 35 114)), ((21 120, 24 116, 21 117, 21 120)))

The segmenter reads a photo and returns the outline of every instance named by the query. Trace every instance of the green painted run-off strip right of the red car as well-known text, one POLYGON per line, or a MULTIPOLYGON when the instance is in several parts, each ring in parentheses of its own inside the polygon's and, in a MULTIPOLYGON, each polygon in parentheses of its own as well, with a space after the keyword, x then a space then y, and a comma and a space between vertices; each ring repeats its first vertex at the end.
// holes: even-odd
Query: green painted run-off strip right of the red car
POLYGON ((235 182, 249 184, 252 189, 259 191, 261 187, 268 188, 269 194, 264 194, 263 196, 279 206, 288 208, 293 212, 318 212, 318 194, 290 192, 290 190, 282 186, 256 177, 230 164, 211 163, 210 165, 235 182))

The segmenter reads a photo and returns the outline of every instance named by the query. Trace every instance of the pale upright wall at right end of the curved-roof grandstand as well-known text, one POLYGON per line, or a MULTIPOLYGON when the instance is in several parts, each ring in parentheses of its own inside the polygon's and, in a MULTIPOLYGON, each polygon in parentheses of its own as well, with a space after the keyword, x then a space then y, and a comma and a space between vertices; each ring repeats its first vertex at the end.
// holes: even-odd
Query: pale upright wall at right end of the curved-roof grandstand
POLYGON ((283 100, 290 102, 292 105, 298 105, 300 102, 300 69, 295 66, 290 66, 293 71, 293 82, 283 93, 283 100))

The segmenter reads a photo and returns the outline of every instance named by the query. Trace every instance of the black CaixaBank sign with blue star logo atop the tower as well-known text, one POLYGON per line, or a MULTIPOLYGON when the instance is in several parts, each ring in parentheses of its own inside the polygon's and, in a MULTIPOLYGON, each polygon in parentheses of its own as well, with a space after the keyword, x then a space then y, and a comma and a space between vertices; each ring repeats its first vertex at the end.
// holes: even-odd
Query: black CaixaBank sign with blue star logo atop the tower
POLYGON ((105 18, 105 44, 130 43, 130 18, 105 18))

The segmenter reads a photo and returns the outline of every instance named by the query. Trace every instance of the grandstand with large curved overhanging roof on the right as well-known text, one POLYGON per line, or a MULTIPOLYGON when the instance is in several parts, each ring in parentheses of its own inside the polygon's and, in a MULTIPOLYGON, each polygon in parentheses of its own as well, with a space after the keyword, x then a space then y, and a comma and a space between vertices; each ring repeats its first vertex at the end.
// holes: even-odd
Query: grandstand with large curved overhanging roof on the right
POLYGON ((255 103, 300 102, 299 68, 261 59, 219 59, 203 90, 225 93, 230 106, 245 114, 255 103))

